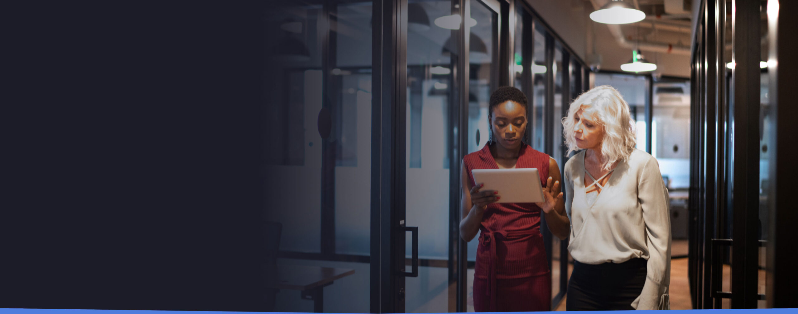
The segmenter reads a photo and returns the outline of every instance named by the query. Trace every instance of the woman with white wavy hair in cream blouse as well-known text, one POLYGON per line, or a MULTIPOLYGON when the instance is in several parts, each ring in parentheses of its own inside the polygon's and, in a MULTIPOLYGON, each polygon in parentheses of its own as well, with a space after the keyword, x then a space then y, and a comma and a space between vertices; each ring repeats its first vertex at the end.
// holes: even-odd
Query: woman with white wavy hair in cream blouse
POLYGON ((563 118, 565 209, 574 270, 568 311, 669 309, 668 190, 657 159, 635 149, 629 104, 603 85, 563 118))

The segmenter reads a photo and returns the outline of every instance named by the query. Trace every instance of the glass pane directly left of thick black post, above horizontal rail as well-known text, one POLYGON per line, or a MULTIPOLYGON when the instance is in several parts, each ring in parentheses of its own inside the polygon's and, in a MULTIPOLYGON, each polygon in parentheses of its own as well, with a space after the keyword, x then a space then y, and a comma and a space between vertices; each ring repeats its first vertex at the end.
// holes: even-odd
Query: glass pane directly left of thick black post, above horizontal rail
MULTIPOLYGON (((335 61, 330 76, 338 116, 335 135, 336 253, 369 255, 371 178, 371 5, 337 6, 335 61), (345 30, 346 29, 346 30, 345 30), (350 31, 348 29, 358 29, 350 31)), ((365 276, 365 275, 364 275, 365 276)))

